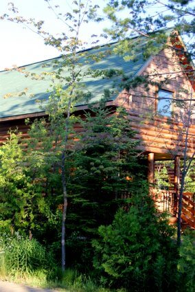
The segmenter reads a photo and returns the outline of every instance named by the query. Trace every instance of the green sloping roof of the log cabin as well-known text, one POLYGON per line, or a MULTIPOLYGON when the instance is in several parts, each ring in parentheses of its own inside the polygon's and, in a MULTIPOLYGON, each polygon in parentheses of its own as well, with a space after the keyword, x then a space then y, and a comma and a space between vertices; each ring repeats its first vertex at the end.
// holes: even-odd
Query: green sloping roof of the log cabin
MULTIPOLYGON (((106 52, 106 50, 112 50, 115 44, 111 46, 102 46, 99 49, 89 49, 85 52, 89 54, 95 54, 98 52, 106 52)), ((88 65, 84 65, 82 69, 86 70, 87 67, 91 69, 122 69, 124 74, 128 76, 135 76, 142 66, 146 63, 142 56, 143 45, 141 45, 139 52, 137 52, 136 60, 130 60, 128 62, 124 61, 122 56, 117 54, 106 54, 100 62, 95 63, 90 62, 88 65)), ((109 52, 109 51, 107 51, 109 52)), ((78 52, 80 54, 80 52, 78 52)), ((80 57, 80 62, 82 63, 82 58, 80 57)), ((25 65, 26 71, 35 74, 41 74, 43 71, 51 72, 54 71, 53 63, 54 59, 45 60, 42 62, 25 65), (47 67, 43 67, 47 64, 47 67)), ((62 60, 61 57, 56 58, 56 60, 62 60)), ((88 91, 93 93, 93 98, 91 102, 98 102, 104 93, 104 89, 112 89, 113 78, 103 79, 98 78, 86 78, 83 80, 88 91)), ((0 72, 0 117, 12 117, 14 115, 25 115, 28 113, 38 113, 43 111, 40 108, 36 100, 45 100, 49 96, 49 85, 51 80, 32 80, 30 77, 25 77, 25 74, 16 70, 12 71, 1 71, 0 72), (18 96, 18 93, 23 92, 27 89, 27 93, 24 96, 18 96), (5 98, 6 95, 11 95, 12 97, 5 98), (32 97, 30 97, 32 96, 32 97)), ((115 96, 116 97, 116 96, 115 96)), ((115 98, 113 97, 112 100, 115 98)), ((80 105, 80 104, 78 104, 80 105)))

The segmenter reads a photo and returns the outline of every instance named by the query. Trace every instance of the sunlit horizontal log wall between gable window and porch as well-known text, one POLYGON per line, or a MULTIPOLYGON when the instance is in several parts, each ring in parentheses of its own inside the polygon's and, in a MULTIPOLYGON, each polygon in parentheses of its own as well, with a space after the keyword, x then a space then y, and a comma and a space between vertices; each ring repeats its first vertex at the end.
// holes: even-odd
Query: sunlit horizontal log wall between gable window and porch
MULTIPOLYGON (((129 113, 130 125, 135 130, 135 137, 141 141, 141 150, 154 153, 167 153, 170 157, 174 155, 183 156, 185 148, 186 131, 183 131, 183 125, 166 124, 163 119, 144 120, 135 113, 129 113)), ((195 149, 195 126, 190 126, 187 138, 187 153, 191 156, 195 149)))

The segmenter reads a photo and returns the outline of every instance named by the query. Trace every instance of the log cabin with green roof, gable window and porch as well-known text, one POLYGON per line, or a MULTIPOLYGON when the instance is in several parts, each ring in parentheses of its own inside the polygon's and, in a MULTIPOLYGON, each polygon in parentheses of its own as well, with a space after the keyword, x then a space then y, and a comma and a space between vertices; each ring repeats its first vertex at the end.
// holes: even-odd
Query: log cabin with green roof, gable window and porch
MULTIPOLYGON (((124 106, 128 111, 135 138, 141 141, 139 150, 148 159, 148 181, 157 207, 176 218, 181 161, 185 150, 187 157, 193 157, 195 148, 194 65, 177 32, 173 32, 168 43, 151 56, 144 56, 146 38, 135 37, 130 43, 138 49, 135 58, 128 58, 128 61, 121 54, 113 53, 117 43, 78 52, 81 63, 83 52, 104 54, 102 60, 93 60, 84 65, 84 69, 89 66, 94 71, 117 69, 123 72, 121 77, 115 76, 115 80, 96 76, 84 80, 84 84, 93 93, 91 102, 98 102, 104 89, 112 89, 115 82, 115 91, 106 106, 113 109, 124 106), (128 80, 136 78, 147 81, 130 85, 128 80), (157 161, 169 160, 174 161, 174 168, 170 168, 168 174, 173 188, 157 190, 154 177, 157 161)), ((43 76, 43 71, 49 76, 56 60, 62 61, 58 57, 0 72, 0 144, 5 142, 10 128, 18 128, 23 137, 27 137, 26 118, 34 120, 45 116, 36 100, 47 100, 51 94, 47 90, 51 79, 37 76, 43 76)), ((87 108, 87 102, 78 102, 75 111, 80 114, 87 108)), ((182 213, 183 223, 194 228, 194 194, 184 194, 182 213)))

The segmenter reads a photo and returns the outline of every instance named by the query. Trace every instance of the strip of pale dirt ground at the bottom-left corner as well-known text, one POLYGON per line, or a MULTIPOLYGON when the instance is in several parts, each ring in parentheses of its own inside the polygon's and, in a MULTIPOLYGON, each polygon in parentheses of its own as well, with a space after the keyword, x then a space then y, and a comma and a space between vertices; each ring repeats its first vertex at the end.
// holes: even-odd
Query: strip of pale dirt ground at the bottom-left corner
POLYGON ((49 290, 32 288, 6 281, 0 281, 0 292, 59 292, 59 290, 49 290))

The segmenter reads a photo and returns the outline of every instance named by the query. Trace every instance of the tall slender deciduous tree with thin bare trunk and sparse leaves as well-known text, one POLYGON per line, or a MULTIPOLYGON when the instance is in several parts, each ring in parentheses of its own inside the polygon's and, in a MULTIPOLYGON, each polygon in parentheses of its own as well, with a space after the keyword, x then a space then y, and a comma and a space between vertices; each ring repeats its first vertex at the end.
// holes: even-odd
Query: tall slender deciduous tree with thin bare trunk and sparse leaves
MULTIPOLYGON (((61 155, 61 182, 63 194, 63 208, 62 208, 62 271, 65 270, 65 221, 67 217, 67 176, 66 164, 69 156, 69 134, 71 132, 71 120, 73 115, 73 107, 79 100, 84 101, 86 96, 89 96, 88 89, 84 88, 83 78, 87 76, 94 76, 95 70, 87 70, 84 65, 89 63, 89 60, 95 58, 98 62, 100 56, 80 52, 78 50, 86 47, 80 39, 80 28, 83 23, 89 23, 94 19, 98 19, 97 10, 98 5, 93 5, 91 1, 73 1, 71 10, 62 14, 58 5, 53 5, 51 1, 46 0, 49 9, 54 12, 56 18, 62 23, 64 30, 60 35, 54 36, 50 32, 44 30, 44 21, 36 21, 33 18, 25 19, 19 15, 19 10, 10 3, 10 14, 1 16, 2 20, 12 21, 28 27, 30 30, 36 32, 43 38, 45 45, 51 45, 59 50, 61 58, 54 61, 54 70, 49 74, 31 74, 25 71, 25 76, 38 80, 50 78, 51 80, 51 95, 49 98, 49 106, 43 106, 43 110, 49 115, 49 123, 54 128, 50 127, 49 135, 53 134, 54 143, 57 139, 56 145, 60 142, 61 155), (63 126, 62 122, 63 121, 63 126), (57 126, 60 124, 60 128, 57 126), (62 134, 63 127, 63 134, 62 134), (60 137, 60 139, 59 139, 60 137)), ((60 8, 62 9, 62 8, 60 8)), ((93 37, 93 36, 92 36, 93 37)), ((97 41, 98 42, 98 41, 97 41)), ((100 54, 101 55, 101 54, 100 54)), ((47 65, 46 65, 47 66, 47 65)), ((22 70, 22 69, 19 69, 22 70)), ((40 125, 40 124, 39 124, 40 125)), ((40 141, 40 143, 44 143, 40 141)), ((46 146, 46 148, 48 148, 46 146)), ((50 149, 51 151, 51 149, 50 149)), ((41 153, 40 153, 41 154, 41 153)), ((48 153, 49 155, 49 153, 48 153)))

